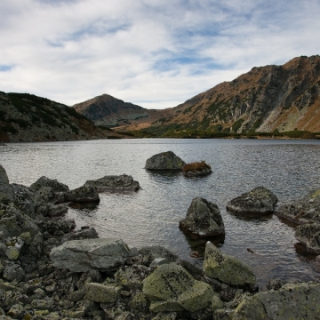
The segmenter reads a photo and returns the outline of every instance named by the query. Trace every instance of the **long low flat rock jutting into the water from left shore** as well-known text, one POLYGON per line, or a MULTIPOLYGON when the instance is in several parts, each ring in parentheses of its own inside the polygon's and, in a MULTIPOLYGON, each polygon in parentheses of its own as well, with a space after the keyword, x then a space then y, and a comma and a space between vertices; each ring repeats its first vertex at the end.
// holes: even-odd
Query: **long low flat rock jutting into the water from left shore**
POLYGON ((138 191, 140 185, 138 181, 133 180, 132 176, 126 174, 119 176, 105 176, 98 180, 88 180, 84 186, 92 186, 102 191, 138 191))

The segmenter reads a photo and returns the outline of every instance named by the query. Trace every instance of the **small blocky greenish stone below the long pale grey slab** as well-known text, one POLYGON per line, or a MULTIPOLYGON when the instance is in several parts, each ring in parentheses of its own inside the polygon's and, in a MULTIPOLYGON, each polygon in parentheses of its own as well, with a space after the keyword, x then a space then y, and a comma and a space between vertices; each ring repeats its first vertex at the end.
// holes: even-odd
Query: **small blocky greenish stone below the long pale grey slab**
POLYGON ((115 284, 85 284, 85 298, 101 303, 114 303, 119 297, 121 286, 115 284))

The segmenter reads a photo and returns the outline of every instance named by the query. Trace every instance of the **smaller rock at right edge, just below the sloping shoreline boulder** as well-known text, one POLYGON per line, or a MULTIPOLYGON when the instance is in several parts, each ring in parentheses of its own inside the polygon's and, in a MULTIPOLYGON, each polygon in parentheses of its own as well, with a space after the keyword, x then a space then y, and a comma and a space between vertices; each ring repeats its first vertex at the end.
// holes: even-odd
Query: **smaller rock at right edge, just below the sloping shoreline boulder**
POLYGON ((320 221, 310 221, 298 226, 294 236, 305 245, 308 252, 320 253, 320 221))

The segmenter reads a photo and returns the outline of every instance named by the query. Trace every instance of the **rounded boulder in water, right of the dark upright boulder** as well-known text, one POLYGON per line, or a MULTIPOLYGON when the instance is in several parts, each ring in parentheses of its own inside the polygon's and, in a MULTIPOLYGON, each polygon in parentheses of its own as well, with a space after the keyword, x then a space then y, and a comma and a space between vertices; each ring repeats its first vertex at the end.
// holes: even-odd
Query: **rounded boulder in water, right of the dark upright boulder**
POLYGON ((268 188, 256 187, 229 201, 227 210, 236 214, 260 216, 274 212, 276 201, 276 195, 268 188))

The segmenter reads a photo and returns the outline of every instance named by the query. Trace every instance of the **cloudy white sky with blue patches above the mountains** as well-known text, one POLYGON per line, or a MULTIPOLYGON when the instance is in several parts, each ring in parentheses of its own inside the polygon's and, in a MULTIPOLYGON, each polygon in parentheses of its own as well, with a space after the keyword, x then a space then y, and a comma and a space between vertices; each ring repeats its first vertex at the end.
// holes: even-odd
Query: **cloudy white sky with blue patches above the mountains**
POLYGON ((1 0, 0 91, 170 108, 320 53, 319 0, 1 0))

